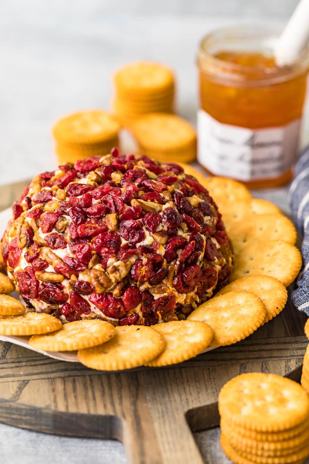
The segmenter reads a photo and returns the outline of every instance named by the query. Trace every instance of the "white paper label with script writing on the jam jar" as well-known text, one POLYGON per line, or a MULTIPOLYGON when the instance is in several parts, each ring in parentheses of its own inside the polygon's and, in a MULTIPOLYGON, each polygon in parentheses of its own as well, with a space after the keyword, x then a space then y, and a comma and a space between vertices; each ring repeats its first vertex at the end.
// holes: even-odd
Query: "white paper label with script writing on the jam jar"
POLYGON ((216 175, 239 180, 271 179, 290 169, 298 151, 300 119, 286 126, 246 129, 197 114, 197 159, 216 175))

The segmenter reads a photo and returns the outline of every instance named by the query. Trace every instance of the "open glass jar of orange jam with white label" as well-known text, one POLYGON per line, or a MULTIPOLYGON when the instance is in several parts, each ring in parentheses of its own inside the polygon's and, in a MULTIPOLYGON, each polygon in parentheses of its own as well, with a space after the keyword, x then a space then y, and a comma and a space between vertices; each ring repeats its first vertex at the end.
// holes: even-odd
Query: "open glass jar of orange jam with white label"
POLYGON ((309 51, 278 67, 272 29, 233 27, 202 39, 197 55, 199 163, 251 188, 288 182, 296 160, 309 51))

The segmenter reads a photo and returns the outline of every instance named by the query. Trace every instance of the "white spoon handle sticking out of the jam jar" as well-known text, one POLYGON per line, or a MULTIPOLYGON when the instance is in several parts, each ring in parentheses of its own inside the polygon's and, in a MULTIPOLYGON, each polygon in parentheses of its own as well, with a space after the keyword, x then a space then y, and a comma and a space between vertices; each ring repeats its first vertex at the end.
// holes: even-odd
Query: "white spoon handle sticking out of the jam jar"
POLYGON ((309 41, 309 0, 300 0, 278 39, 274 55, 278 66, 296 62, 309 41))

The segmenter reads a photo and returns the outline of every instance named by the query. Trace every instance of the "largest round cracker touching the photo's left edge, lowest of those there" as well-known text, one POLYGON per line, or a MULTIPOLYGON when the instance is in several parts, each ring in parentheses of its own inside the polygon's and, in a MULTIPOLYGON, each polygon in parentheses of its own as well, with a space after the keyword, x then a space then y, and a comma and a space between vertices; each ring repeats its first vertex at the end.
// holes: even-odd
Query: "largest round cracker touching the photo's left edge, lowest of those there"
POLYGON ((57 317, 44 313, 25 313, 22 316, 2 316, 0 335, 38 335, 54 332, 62 327, 57 317))

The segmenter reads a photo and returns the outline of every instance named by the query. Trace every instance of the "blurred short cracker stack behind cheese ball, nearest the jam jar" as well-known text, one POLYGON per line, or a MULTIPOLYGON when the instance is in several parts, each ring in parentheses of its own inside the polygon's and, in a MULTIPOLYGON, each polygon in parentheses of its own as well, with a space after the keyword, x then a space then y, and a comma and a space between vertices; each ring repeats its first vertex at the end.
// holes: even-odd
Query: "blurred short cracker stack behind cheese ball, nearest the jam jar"
POLYGON ((134 121, 130 130, 139 154, 158 161, 190 162, 196 158, 196 132, 184 119, 164 113, 152 113, 134 121))

